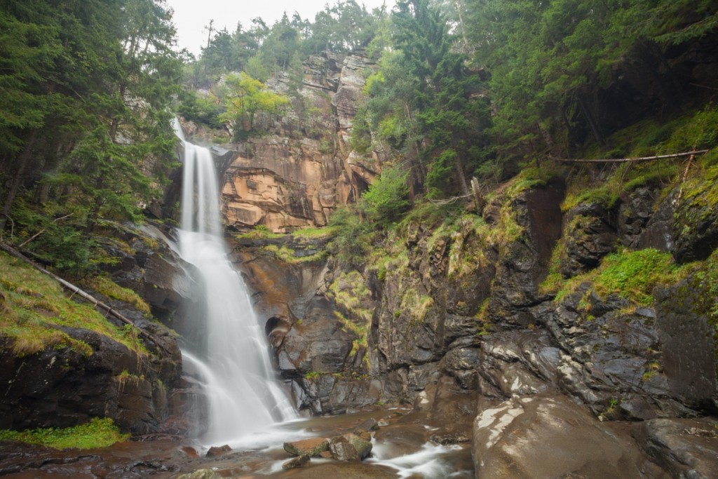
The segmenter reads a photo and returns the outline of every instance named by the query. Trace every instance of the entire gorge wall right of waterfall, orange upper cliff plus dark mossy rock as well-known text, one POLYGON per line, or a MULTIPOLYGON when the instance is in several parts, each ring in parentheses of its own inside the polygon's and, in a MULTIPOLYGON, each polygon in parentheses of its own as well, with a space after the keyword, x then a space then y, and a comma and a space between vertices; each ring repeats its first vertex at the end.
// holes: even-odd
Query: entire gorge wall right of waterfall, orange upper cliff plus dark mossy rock
MULTIPOLYGON (((365 190, 381 153, 358 157, 348 136, 370 66, 314 57, 302 90, 311 120, 295 106, 271 134, 225 145, 236 152, 223 180, 229 230, 325 225, 365 190)), ((286 91, 288 81, 274 88, 286 91)), ((716 446, 715 424, 699 418, 718 411, 714 301, 706 299, 714 297, 715 187, 698 180, 689 192, 666 193, 648 181, 610 204, 567 206, 575 172, 517 177, 451 221, 412 215, 366 248, 358 267, 327 253, 328 233, 240 236, 236 264, 299 408, 411 404, 432 428, 427 439, 487 438, 474 442, 478 475, 710 477, 718 457, 699 443, 716 446), (611 255, 707 261, 637 299, 603 287, 611 255), (556 278, 576 280, 558 287, 556 278), (601 452, 541 462, 539 446, 567 447, 555 421, 601 452)))

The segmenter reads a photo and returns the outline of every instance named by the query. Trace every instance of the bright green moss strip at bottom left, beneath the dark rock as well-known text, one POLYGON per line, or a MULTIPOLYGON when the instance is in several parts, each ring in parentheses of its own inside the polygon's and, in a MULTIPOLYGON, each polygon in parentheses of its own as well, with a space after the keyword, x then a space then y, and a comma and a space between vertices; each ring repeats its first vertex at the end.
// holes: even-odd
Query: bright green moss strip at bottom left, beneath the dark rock
POLYGON ((94 418, 87 424, 66 429, 32 429, 20 432, 5 429, 0 431, 0 440, 28 442, 53 449, 95 449, 129 440, 129 434, 122 434, 112 419, 94 418))

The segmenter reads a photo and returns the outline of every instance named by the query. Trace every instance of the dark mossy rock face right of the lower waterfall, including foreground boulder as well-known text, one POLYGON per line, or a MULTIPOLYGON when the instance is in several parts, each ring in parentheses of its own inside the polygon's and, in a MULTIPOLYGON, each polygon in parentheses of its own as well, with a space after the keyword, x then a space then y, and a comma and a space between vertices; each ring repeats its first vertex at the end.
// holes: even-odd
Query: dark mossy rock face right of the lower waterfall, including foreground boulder
MULTIPOLYGON (((674 215, 678 192, 639 189, 610 211, 584 203, 567 213, 563 194, 554 180, 498 195, 482 218, 457 220, 452 231, 409 221, 386 239, 381 266, 362 271, 333 259, 288 266, 261 244, 243 248, 241 268, 259 292, 297 405, 336 414, 414 404, 416 422, 444 424, 435 442, 473 434, 477 477, 684 474, 674 471, 694 464, 700 434, 639 434, 614 420, 658 427, 661 418, 716 410, 711 280, 696 271, 656 289, 649 306, 599 294, 591 282, 559 301, 541 290, 549 267, 563 276, 591 271, 618 243, 671 251, 684 214, 674 215), (446 426, 477 414, 473 432, 446 426), (681 435, 684 455, 662 450, 661 434, 681 435)), ((697 207, 686 200, 679 208, 697 207)), ((702 251, 699 238, 684 241, 702 251)), ((297 257, 304 247, 290 245, 297 257)))

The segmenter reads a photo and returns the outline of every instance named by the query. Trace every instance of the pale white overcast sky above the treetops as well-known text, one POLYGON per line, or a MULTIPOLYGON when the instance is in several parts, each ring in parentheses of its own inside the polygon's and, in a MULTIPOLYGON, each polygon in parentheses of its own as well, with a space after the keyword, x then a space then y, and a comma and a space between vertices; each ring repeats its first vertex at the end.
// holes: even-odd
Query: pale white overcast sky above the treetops
MULTIPOLYGON (((214 28, 226 28, 232 33, 241 22, 244 28, 251 26, 256 17, 264 19, 267 25, 274 24, 281 15, 289 15, 292 19, 294 11, 298 11, 302 19, 314 22, 314 15, 324 9, 325 5, 336 4, 336 0, 166 0, 174 10, 174 26, 177 27, 178 46, 180 50, 187 48, 198 55, 200 47, 207 43, 205 26, 214 19, 214 28)), ((386 1, 387 9, 391 9, 394 0, 357 0, 371 11, 386 1)))

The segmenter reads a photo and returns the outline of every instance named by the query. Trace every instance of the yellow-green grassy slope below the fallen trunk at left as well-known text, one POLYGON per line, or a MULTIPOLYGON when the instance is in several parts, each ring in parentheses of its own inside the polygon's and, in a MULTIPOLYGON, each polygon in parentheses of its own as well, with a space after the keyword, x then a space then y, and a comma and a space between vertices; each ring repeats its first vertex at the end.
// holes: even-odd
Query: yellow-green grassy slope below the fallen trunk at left
POLYGON ((14 341, 17 355, 52 346, 72 348, 85 356, 92 348, 70 338, 58 326, 84 328, 106 335, 137 353, 147 353, 136 335, 116 327, 88 304, 65 297, 60 284, 19 259, 0 253, 0 335, 14 341))

